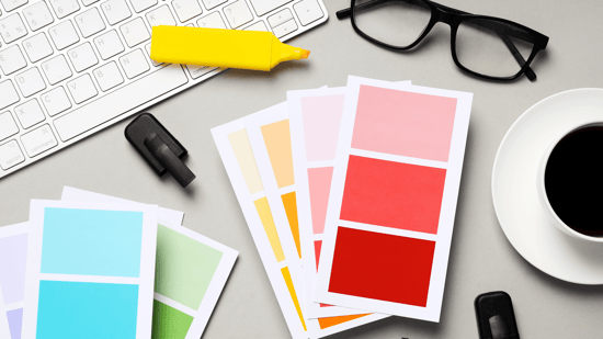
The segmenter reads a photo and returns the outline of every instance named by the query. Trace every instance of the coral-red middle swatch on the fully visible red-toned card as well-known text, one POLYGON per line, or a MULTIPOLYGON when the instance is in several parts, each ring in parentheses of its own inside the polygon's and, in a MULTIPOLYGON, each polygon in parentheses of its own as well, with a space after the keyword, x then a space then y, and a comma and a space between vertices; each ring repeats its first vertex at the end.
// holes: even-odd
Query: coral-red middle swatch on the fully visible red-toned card
POLYGON ((350 156, 340 218, 437 233, 446 170, 350 156))

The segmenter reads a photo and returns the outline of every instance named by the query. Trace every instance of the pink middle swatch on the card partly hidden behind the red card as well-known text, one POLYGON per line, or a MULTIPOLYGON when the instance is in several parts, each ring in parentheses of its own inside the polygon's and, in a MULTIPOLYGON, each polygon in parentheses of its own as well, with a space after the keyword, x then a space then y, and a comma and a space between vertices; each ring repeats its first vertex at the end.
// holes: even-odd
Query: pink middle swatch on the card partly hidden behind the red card
POLYGON ((332 167, 308 169, 314 234, 322 234, 325 231, 325 221, 327 219, 327 207, 329 205, 332 177, 332 167))

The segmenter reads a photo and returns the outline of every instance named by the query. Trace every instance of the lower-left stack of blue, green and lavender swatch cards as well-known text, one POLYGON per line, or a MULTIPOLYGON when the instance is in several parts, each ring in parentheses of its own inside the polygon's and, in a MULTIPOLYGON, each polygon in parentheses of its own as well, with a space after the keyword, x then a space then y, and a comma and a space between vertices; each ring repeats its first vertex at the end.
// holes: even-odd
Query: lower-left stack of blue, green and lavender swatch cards
POLYGON ((182 212, 65 188, 0 227, 0 338, 198 339, 238 252, 182 212))

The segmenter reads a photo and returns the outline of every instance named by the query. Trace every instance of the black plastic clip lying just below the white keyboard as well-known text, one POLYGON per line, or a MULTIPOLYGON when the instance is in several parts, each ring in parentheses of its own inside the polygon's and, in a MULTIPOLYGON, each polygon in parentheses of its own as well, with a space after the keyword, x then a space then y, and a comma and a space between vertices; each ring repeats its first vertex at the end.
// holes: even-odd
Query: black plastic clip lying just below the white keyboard
POLYGON ((163 176, 166 171, 185 188, 195 174, 182 162, 186 148, 149 113, 143 113, 126 126, 126 139, 145 158, 152 170, 163 176))

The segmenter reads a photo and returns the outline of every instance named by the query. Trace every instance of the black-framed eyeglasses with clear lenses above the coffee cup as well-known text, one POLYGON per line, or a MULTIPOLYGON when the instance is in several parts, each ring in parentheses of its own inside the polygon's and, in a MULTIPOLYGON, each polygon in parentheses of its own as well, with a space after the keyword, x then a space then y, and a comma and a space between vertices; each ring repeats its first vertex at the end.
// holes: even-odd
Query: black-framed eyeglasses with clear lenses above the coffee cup
POLYGON ((454 63, 464 71, 489 80, 510 81, 525 74, 548 37, 509 20, 475 15, 430 0, 352 0, 337 18, 352 18, 362 37, 379 46, 407 50, 443 22, 451 26, 454 63))

